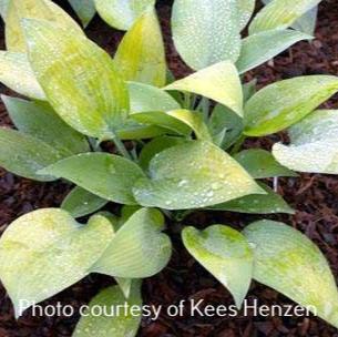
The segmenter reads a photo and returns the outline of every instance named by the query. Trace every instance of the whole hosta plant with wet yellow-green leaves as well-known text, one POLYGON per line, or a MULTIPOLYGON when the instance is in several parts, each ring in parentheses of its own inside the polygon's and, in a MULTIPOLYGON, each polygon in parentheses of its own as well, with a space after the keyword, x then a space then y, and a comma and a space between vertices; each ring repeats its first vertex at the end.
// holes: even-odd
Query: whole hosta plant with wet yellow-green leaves
MULTIPOLYGON (((113 58, 50 0, 7 2, 0 80, 22 98, 2 96, 16 129, 0 129, 0 164, 74 185, 59 208, 20 216, 0 239, 0 278, 17 317, 91 273, 117 284, 92 305, 140 305, 141 279, 171 257, 163 229, 181 222, 186 249, 238 308, 254 279, 338 327, 335 279, 305 235, 264 215, 244 231, 198 231, 185 221, 195 210, 293 214, 269 178, 338 173, 338 111, 317 110, 338 92, 338 78, 299 76, 257 91, 244 76, 310 40, 289 27, 319 1, 274 0, 245 35, 254 0, 176 0, 173 39, 192 68, 183 79, 166 65, 154 1, 130 1, 129 10, 125 1, 96 1, 127 29, 113 58), (243 150, 246 137, 283 130, 289 144, 243 150), (106 212, 109 203, 120 211, 106 212)), ((74 336, 134 336, 139 324, 132 315, 86 316, 74 336)))

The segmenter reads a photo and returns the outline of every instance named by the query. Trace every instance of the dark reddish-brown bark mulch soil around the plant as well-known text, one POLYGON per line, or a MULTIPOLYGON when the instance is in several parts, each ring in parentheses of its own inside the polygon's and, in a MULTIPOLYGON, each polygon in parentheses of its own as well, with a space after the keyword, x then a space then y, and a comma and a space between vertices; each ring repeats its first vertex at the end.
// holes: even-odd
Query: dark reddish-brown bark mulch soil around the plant
MULTIPOLYGON (((59 1, 59 3, 65 1, 59 1)), ((66 3, 61 3, 71 11, 66 3)), ((158 6, 161 23, 167 48, 168 64, 177 78, 191 71, 181 61, 170 34, 171 1, 158 6)), ((247 74, 247 80, 256 78, 259 85, 276 80, 306 74, 338 74, 338 2, 325 1, 320 6, 316 39, 300 42, 277 57, 274 62, 255 69, 247 74)), ((111 54, 114 53, 122 34, 114 31, 101 19, 95 18, 88 28, 89 37, 111 54)), ((3 27, 1 27, 3 49, 3 27)), ((10 93, 1 86, 2 93, 10 93)), ((332 98, 326 108, 338 109, 338 96, 332 98)), ((0 105, 0 124, 11 125, 3 105, 0 105)), ((270 149, 283 134, 260 140, 248 140, 246 147, 270 149)), ((37 183, 20 178, 0 170, 0 233, 18 216, 41 207, 59 206, 70 190, 66 183, 37 183)), ((321 174, 301 174, 299 178, 280 178, 278 192, 295 207, 294 216, 266 216, 284 221, 305 233, 319 245, 338 278, 338 177, 321 174)), ((111 207, 113 207, 111 205, 111 207)), ((197 212, 185 219, 185 225, 205 227, 214 223, 231 224, 242 228, 258 216, 239 215, 226 212, 197 212)), ((181 299, 205 299, 205 304, 231 305, 228 292, 198 265, 182 245, 180 233, 182 224, 168 224, 167 233, 174 243, 170 265, 158 275, 145 279, 143 296, 145 304, 168 306, 181 299)), ((24 270, 23 270, 24 272, 24 270)), ((306 277, 306 275, 305 275, 306 277)), ((111 278, 91 275, 79 284, 54 296, 45 304, 71 304, 79 307, 88 303, 101 288, 112 283, 111 278)), ((248 300, 258 299, 259 304, 291 304, 280 294, 253 283, 248 300)), ((27 313, 16 321, 9 297, 0 287, 0 337, 68 337, 79 317, 31 317, 27 313)), ((335 328, 316 317, 184 317, 172 318, 162 315, 158 320, 143 319, 139 336, 146 337, 255 337, 255 336, 320 336, 338 337, 335 328)))

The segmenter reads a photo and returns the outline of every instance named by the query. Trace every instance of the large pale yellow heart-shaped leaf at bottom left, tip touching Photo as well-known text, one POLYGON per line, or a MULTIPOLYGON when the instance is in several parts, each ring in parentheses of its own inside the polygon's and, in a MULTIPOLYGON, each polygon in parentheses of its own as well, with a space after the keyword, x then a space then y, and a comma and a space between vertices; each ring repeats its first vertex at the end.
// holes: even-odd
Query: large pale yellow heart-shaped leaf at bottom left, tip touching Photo
POLYGON ((111 236, 112 226, 104 217, 81 225, 58 208, 16 219, 0 239, 0 277, 17 317, 85 277, 111 236))

